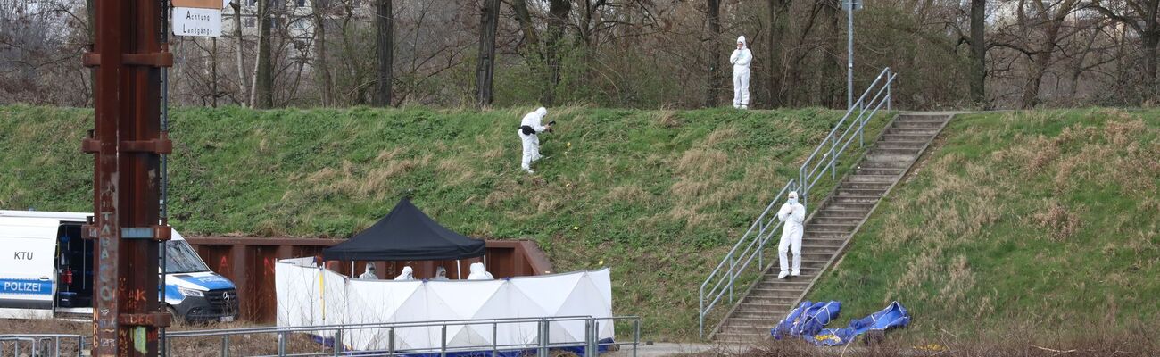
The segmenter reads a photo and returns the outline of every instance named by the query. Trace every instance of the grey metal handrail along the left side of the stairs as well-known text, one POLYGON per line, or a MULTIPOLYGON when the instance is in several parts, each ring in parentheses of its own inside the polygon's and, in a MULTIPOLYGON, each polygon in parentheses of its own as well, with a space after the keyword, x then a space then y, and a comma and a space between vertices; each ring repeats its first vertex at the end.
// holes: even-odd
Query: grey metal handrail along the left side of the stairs
POLYGON ((883 68, 878 73, 878 76, 862 93, 862 96, 846 110, 846 115, 838 121, 838 124, 818 144, 818 147, 802 162, 797 178, 790 178, 782 187, 782 190, 769 202, 766 210, 749 225, 749 230, 745 231, 741 239, 725 254, 725 258, 709 272, 699 290, 697 328, 702 338, 705 336, 705 316, 725 296, 728 296, 730 304, 733 304, 733 290, 738 277, 746 272, 753 260, 757 260, 757 269, 764 269, 766 246, 777 228, 782 226, 782 223, 776 219, 776 214, 770 214, 770 211, 778 202, 782 202, 782 196, 791 190, 797 190, 802 204, 805 204, 810 196, 810 189, 817 185, 818 181, 827 173, 833 180, 836 180, 838 156, 846 152, 855 136, 858 137, 858 146, 863 146, 863 131, 870 118, 878 112, 883 104, 886 105, 886 110, 890 110, 891 85, 893 85, 896 76, 898 74, 891 72, 890 67, 883 68), (867 101, 867 96, 871 92, 875 94, 870 101, 867 101), (870 108, 870 111, 867 111, 867 108, 870 108), (839 132, 840 129, 842 129, 841 132, 839 132))

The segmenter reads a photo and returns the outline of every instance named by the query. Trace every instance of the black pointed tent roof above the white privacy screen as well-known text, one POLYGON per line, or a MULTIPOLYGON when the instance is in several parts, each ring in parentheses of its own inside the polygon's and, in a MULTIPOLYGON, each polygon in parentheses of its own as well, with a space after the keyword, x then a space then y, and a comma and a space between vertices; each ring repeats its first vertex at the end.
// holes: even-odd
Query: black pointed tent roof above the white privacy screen
POLYGON ((483 240, 444 228, 403 198, 391 213, 345 242, 322 249, 328 261, 435 261, 481 256, 483 240))

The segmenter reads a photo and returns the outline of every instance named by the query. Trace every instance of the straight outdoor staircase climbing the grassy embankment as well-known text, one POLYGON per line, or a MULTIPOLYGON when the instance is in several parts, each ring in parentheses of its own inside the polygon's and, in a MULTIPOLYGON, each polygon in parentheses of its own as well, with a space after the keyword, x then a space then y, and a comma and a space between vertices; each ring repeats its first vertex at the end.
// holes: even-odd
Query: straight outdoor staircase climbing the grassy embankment
MULTIPOLYGON (((821 202, 820 209, 806 219, 802 276, 778 280, 781 268, 775 255, 761 280, 742 296, 710 338, 734 343, 769 338, 769 329, 799 304, 818 276, 841 257, 878 201, 909 170, 950 118, 950 115, 898 116, 855 172, 843 177, 834 192, 821 202)), ((770 245, 775 252, 780 238, 781 232, 774 233, 770 245)), ((789 255, 792 258, 792 254, 789 255)))

